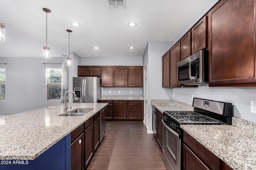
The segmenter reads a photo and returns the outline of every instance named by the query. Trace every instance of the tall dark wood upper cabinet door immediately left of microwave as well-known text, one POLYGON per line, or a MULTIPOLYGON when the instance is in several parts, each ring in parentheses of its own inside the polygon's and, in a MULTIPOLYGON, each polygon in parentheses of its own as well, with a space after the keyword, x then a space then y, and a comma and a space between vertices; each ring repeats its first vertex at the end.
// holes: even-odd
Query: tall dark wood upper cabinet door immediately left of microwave
POLYGON ((171 60, 170 86, 179 87, 180 84, 178 84, 177 63, 180 61, 180 41, 170 49, 170 60, 171 60))

